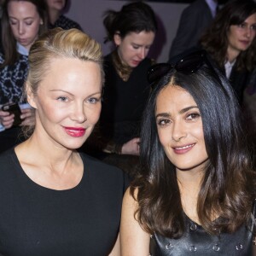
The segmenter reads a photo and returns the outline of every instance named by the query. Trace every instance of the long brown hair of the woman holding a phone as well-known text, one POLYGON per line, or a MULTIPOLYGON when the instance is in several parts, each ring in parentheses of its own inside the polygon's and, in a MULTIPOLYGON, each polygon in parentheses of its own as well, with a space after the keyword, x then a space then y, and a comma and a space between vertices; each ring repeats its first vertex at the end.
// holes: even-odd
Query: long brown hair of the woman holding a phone
MULTIPOLYGON (((19 58, 19 53, 16 50, 16 40, 14 34, 9 26, 9 15, 8 15, 8 4, 11 1, 20 1, 20 0, 6 0, 3 4, 3 16, 1 19, 2 26, 2 44, 3 44, 3 54, 4 62, 0 67, 7 65, 12 65, 19 58)), ((46 5, 44 0, 24 0, 30 2, 36 6, 40 18, 43 20, 43 25, 39 27, 39 34, 45 32, 47 28, 47 15, 46 15, 46 5)))

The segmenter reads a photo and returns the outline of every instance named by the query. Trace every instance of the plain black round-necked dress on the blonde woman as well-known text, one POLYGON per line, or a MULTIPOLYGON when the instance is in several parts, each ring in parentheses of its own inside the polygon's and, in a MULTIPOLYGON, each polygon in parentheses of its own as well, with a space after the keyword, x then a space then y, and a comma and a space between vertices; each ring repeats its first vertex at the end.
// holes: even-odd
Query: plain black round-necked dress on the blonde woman
POLYGON ((73 189, 34 183, 14 149, 0 155, 0 255, 102 256, 119 233, 124 173, 81 154, 84 175, 73 189))

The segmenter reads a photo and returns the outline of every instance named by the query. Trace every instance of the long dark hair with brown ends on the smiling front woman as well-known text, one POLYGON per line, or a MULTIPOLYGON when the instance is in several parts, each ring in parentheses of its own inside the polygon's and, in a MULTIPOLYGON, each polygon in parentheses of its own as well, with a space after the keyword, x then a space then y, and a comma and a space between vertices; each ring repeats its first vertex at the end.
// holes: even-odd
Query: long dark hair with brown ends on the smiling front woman
POLYGON ((138 189, 135 217, 151 234, 172 238, 183 234, 183 207, 175 166, 160 144, 155 120, 160 90, 173 85, 187 90, 201 112, 208 163, 197 201, 200 223, 212 234, 217 230, 234 232, 251 217, 255 177, 236 96, 224 76, 218 73, 217 77, 206 65, 191 74, 172 69, 148 99, 142 122, 142 170, 131 184, 135 198, 138 189), (214 222, 212 212, 219 216, 214 222))

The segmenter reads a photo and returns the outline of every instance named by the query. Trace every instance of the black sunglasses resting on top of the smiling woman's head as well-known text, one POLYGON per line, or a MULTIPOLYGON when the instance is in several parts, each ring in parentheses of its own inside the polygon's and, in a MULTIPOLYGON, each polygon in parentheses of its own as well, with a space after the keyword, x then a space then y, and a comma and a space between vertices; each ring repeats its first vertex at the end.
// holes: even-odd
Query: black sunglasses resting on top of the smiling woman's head
POLYGON ((195 73, 203 64, 207 64, 213 70, 212 64, 207 60, 207 53, 205 50, 198 50, 189 55, 184 56, 181 60, 175 64, 159 63, 155 64, 148 69, 148 82, 153 84, 161 77, 165 76, 172 68, 175 68, 177 72, 181 73, 195 73))

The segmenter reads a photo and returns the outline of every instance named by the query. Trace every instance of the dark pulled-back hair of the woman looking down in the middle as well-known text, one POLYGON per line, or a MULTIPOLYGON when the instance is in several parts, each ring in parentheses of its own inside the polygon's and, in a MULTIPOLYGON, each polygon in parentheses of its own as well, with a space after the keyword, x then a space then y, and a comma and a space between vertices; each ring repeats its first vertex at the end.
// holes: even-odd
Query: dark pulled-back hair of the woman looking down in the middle
POLYGON ((119 32, 121 38, 129 32, 156 32, 157 23, 154 11, 147 3, 135 2, 125 4, 120 11, 108 10, 104 13, 103 24, 107 30, 107 41, 119 32))

